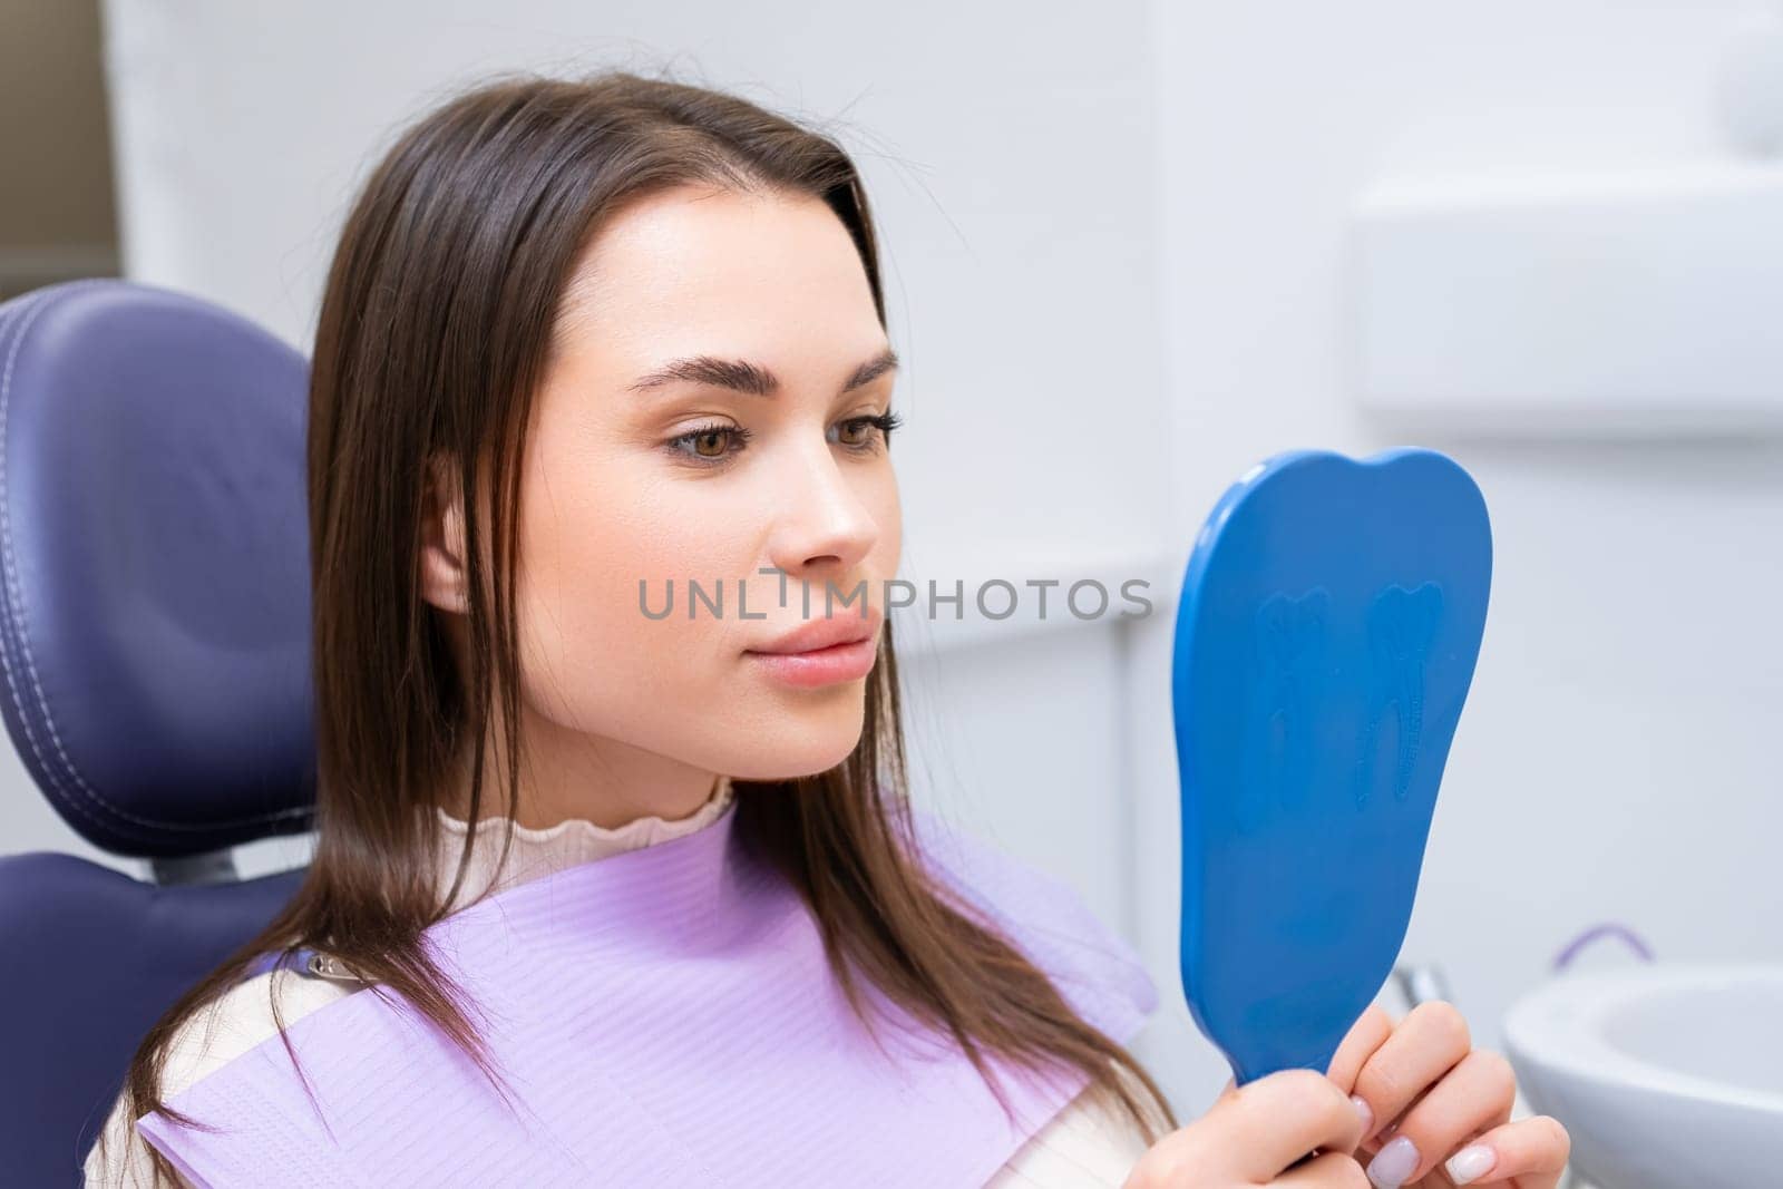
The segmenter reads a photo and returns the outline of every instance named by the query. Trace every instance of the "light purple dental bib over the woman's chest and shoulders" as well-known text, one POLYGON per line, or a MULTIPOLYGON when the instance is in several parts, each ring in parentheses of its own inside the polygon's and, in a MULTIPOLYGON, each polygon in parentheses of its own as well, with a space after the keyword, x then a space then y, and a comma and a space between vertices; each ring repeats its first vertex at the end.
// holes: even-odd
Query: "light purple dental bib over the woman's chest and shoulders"
MULTIPOLYGON (((861 982, 861 1025, 797 891, 708 827, 489 897, 428 931, 510 1096, 399 995, 357 991, 150 1112, 194 1185, 982 1185, 1084 1086, 970 1061, 861 982), (389 1002, 387 1002, 387 998, 389 1002), (512 1103, 510 1103, 512 1100, 512 1103), (319 1114, 317 1114, 319 1107, 319 1114)), ((916 813, 929 870, 1125 1045, 1157 1004, 1064 882, 916 813)))

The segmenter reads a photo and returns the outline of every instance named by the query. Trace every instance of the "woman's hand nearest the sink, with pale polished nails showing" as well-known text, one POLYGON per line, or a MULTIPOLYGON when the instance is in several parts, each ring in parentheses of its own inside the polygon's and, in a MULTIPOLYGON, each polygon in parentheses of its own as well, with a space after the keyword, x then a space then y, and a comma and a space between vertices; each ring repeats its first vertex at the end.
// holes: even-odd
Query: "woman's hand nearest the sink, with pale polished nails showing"
POLYGON ((1419 1004, 1398 1025, 1362 1013, 1328 1071, 1371 1116, 1355 1159, 1380 1189, 1555 1189, 1573 1141, 1546 1114, 1510 1121, 1517 1078, 1473 1048, 1453 1004, 1419 1004))

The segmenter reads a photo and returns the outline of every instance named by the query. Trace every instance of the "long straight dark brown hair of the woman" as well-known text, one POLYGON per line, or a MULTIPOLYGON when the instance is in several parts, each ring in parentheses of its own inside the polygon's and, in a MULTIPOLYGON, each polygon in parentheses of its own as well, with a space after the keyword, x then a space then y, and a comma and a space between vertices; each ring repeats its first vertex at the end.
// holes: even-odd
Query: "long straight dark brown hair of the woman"
MULTIPOLYGON (((160 1100, 169 1041, 255 957, 298 947, 333 954, 373 993, 401 993, 499 1084, 465 996, 421 938, 464 881, 474 832, 442 895, 439 822, 424 809, 439 804, 460 743, 474 743, 469 806, 472 820, 481 815, 485 734, 499 722, 503 847, 512 841, 521 770, 512 590, 531 398, 592 234, 620 203, 686 184, 827 203, 859 250, 884 326, 854 162, 834 139, 731 94, 629 71, 497 77, 405 128, 367 178, 328 273, 308 394, 316 852, 283 911, 148 1032, 125 1084, 132 1121, 160 1111, 203 1127, 160 1100), (481 499, 464 501, 467 674, 421 597, 435 460, 451 467, 455 490, 494 497, 489 574, 481 499)), ((738 832, 799 890, 863 1018, 856 972, 952 1036, 1006 1107, 986 1052, 1088 1073, 1091 1091, 1155 1141, 1148 1109, 1175 1127, 1157 1084, 913 857, 897 690, 886 624, 859 745, 818 775, 736 781, 738 832)), ((276 996, 273 1013, 283 1030, 276 996)), ((166 1157, 152 1159, 157 1180, 173 1175, 166 1157)))

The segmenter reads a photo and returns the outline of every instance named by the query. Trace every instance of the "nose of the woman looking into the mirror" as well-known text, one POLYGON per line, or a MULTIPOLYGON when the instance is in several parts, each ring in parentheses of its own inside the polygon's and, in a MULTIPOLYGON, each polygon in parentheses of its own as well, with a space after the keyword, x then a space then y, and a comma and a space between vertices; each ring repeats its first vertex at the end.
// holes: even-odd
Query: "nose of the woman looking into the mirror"
POLYGON ((859 467, 838 462, 829 444, 804 449, 777 469, 779 515, 768 540, 768 562, 808 581, 858 578, 859 563, 879 540, 879 524, 861 501, 859 467))

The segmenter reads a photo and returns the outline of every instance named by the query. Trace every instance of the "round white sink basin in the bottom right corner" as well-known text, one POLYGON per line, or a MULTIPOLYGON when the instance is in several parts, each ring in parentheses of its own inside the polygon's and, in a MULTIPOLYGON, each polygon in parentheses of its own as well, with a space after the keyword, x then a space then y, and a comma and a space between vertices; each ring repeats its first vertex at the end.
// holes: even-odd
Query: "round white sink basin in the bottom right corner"
POLYGON ((1523 1096, 1603 1189, 1783 1185, 1783 966, 1560 975, 1505 1016, 1523 1096))

